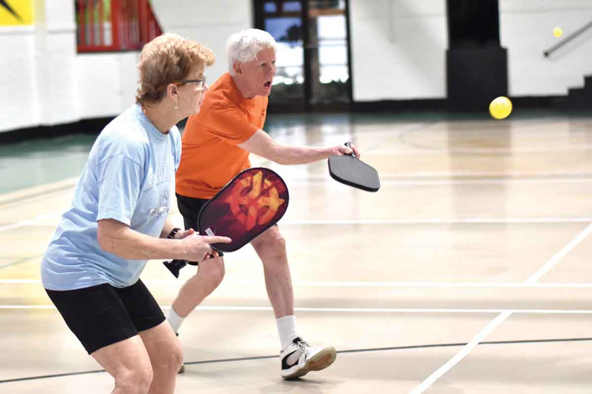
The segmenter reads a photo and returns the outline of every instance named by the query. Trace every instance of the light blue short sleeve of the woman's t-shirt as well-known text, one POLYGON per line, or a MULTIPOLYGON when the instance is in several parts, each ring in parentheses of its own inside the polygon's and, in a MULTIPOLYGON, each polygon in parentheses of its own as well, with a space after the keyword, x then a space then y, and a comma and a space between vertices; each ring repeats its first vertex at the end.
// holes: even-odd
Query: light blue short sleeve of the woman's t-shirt
POLYGON ((123 153, 107 157, 99 165, 96 220, 115 219, 130 225, 144 178, 143 166, 123 153))

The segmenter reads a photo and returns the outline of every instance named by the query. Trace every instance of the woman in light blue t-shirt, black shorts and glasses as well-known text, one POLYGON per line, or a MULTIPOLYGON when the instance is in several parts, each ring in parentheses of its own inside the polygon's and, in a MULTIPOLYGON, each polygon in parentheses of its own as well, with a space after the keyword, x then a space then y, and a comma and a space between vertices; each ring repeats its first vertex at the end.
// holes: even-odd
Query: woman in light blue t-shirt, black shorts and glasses
POLYGON ((175 34, 144 46, 136 104, 99 134, 41 262, 47 294, 114 377, 112 394, 172 394, 181 366, 178 338, 139 279, 147 260, 204 260, 211 243, 230 242, 167 219, 181 157, 175 124, 200 111, 214 59, 175 34))

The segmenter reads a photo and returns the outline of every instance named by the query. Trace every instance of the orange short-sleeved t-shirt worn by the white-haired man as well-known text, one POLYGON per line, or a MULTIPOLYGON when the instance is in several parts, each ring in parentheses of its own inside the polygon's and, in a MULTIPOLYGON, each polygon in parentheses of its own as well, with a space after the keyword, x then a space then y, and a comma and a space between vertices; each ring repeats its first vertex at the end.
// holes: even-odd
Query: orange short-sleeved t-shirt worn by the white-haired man
POLYGON ((265 96, 244 98, 229 73, 218 78, 205 93, 200 112, 185 125, 176 192, 210 199, 249 168, 249 152, 237 144, 263 128, 267 103, 265 96))

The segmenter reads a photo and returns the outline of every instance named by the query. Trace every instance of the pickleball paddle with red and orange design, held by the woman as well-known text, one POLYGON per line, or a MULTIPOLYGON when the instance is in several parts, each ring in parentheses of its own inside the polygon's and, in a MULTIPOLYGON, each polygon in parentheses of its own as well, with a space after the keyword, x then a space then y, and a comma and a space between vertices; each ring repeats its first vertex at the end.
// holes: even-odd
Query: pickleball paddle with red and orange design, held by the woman
MULTIPOLYGON (((288 201, 288 187, 277 173, 263 167, 250 168, 202 206, 197 230, 202 235, 231 238, 231 243, 211 245, 213 249, 236 251, 276 224, 288 209, 288 201)), ((184 260, 165 261, 175 277, 185 264, 184 260)))

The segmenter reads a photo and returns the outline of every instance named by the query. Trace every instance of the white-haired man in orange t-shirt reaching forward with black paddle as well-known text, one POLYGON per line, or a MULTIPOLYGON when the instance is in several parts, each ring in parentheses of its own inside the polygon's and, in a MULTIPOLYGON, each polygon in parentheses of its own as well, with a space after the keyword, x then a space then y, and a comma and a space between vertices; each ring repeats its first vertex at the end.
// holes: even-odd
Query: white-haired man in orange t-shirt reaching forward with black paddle
MULTIPOLYGON (((276 43, 265 31, 249 29, 230 36, 229 73, 211 86, 204 110, 189 118, 182 138, 176 193, 185 228, 197 229, 202 205, 237 173, 250 167, 249 153, 279 164, 303 164, 352 153, 345 146, 292 147, 276 143, 262 130, 275 75, 276 43)), ((358 151, 354 147, 356 156, 358 151)), ((281 341, 281 375, 285 379, 321 370, 333 363, 333 347, 310 347, 295 329, 294 295, 285 241, 277 225, 251 242, 263 263, 265 285, 274 308, 281 341)), ((168 320, 178 333, 181 322, 224 277, 223 257, 200 263, 198 272, 179 290, 168 320)))

